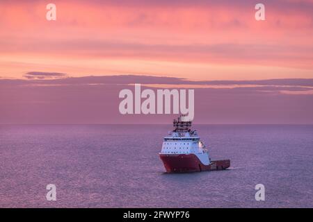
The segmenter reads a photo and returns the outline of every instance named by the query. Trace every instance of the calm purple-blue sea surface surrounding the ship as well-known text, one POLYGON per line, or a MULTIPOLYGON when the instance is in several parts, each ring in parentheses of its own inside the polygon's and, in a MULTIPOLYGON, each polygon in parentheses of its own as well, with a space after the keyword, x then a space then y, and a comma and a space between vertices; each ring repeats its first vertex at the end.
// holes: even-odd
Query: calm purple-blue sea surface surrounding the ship
POLYGON ((0 207, 313 207, 313 126, 195 128, 229 170, 164 173, 170 124, 0 125, 0 207))

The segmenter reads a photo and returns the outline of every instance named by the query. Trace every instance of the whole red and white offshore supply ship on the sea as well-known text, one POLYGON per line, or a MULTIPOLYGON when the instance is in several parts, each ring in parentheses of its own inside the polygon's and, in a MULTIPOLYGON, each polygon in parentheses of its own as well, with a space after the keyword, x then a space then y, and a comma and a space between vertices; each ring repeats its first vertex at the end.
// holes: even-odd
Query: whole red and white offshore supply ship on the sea
POLYGON ((230 167, 230 160, 211 160, 209 150, 184 115, 174 119, 173 128, 164 137, 159 153, 167 173, 218 171, 230 167))

